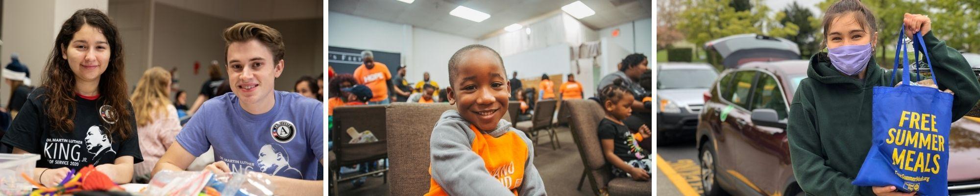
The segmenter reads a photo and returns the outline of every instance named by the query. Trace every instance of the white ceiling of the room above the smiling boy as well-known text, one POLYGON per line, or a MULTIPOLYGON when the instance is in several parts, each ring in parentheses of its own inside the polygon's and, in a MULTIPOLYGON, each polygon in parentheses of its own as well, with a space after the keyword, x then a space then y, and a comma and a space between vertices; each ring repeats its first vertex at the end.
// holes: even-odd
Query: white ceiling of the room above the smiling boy
MULTIPOLYGON (((479 38, 520 23, 562 9, 576 0, 416 0, 412 4, 396 0, 330 0, 330 12, 365 17, 369 19, 408 24, 436 31, 479 38), (449 15, 457 6, 466 6, 490 15, 490 19, 475 23, 449 15)), ((649 0, 581 0, 596 11, 593 16, 580 19, 593 29, 620 25, 638 19, 650 18, 652 2, 649 0)), ((527 24, 522 24, 527 25, 527 24)))

